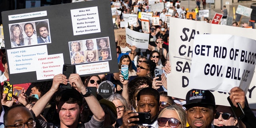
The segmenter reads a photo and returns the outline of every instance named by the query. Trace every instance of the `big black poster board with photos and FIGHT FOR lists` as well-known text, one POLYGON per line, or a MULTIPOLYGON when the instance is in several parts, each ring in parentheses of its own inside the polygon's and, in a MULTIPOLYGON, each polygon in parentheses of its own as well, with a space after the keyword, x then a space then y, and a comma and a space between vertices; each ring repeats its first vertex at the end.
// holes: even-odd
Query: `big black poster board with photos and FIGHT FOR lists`
POLYGON ((118 66, 114 31, 109 27, 113 24, 112 10, 106 5, 108 0, 94 0, 2 12, 10 83, 50 80, 62 72, 63 64, 74 64, 81 76, 118 72, 114 68, 118 66), (17 26, 24 36, 20 46, 11 36, 17 26), (40 34, 42 26, 47 34, 40 34), (25 32, 28 27, 34 28, 31 33, 25 32), (100 54, 102 41, 109 53, 106 59, 100 54), (75 45, 79 48, 73 48, 75 45), (87 60, 86 53, 91 49, 96 54, 94 61, 87 60))

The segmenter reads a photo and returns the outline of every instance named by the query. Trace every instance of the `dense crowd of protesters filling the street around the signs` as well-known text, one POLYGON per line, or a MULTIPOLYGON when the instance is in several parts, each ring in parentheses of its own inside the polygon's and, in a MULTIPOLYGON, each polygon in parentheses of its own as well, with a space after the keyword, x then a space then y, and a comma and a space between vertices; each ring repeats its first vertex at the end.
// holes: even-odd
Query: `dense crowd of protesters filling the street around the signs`
MULTIPOLYGON (((120 3, 122 13, 137 14, 133 11, 137 5, 139 12, 150 12, 148 2, 113 2, 120 3)), ((179 4, 175 7, 175 2, 172 8, 177 13, 174 16, 186 18, 187 10, 179 4)), ((196 3, 198 5, 192 11, 198 12, 200 0, 196 3)), ((128 80, 120 72, 87 77, 71 74, 69 78, 58 74, 52 81, 13 85, 17 95, 13 95, 12 100, 7 101, 6 94, 0 94, 0 125, 5 128, 254 128, 256 117, 248 106, 244 91, 238 87, 230 90, 229 97, 234 106, 239 104, 244 111, 242 119, 236 117, 230 106, 216 105, 209 90, 192 89, 187 92, 186 99, 168 96, 167 90, 171 88, 167 88, 166 77, 171 68, 168 56, 170 29, 165 22, 167 12, 163 9, 154 13, 160 16, 160 24, 150 26, 148 49, 118 46, 116 39, 119 64, 116 68, 121 71, 122 65, 128 65, 128 80), (160 75, 156 72, 159 70, 163 72, 160 75), (60 88, 60 84, 68 83, 72 89, 60 88)), ((122 15, 118 18, 116 24, 119 25, 122 15)), ((188 19, 198 20, 192 16, 188 19)), ((210 22, 208 18, 204 20, 210 22)), ((47 40, 44 31, 48 32, 48 28, 43 28, 37 31, 47 40)), ((141 20, 130 28, 142 32, 141 20)), ((14 25, 11 32, 13 46, 24 45, 25 40, 20 34, 22 28, 14 25)), ((70 42, 72 64, 111 59, 109 47, 114 43, 108 42, 107 38, 96 39, 97 48, 94 49, 93 41, 86 40, 84 51, 80 42, 70 42)), ((6 54, 1 61, 4 73, 0 82, 3 85, 9 80, 6 54)))

